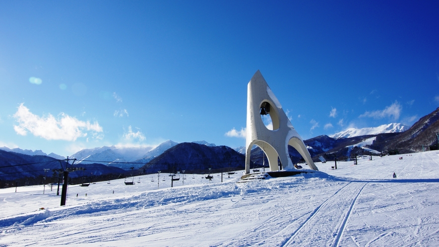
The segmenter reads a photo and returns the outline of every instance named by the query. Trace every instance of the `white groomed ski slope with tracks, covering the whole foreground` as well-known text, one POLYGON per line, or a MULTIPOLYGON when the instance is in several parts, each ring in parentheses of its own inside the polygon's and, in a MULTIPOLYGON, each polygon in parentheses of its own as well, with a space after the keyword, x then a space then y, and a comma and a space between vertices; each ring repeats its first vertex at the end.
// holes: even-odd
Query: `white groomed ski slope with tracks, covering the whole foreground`
POLYGON ((66 206, 56 187, 0 189, 0 246, 439 246, 439 151, 316 165, 240 184, 70 185, 66 206))

